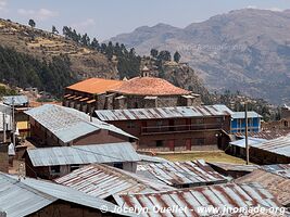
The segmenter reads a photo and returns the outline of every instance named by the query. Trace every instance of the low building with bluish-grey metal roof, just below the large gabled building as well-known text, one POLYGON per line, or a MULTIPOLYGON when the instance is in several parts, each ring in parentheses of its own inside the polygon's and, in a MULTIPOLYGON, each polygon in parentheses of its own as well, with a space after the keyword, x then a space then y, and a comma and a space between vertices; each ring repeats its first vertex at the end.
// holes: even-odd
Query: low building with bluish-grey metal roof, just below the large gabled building
POLYGON ((43 179, 55 179, 93 163, 136 171, 140 161, 129 142, 39 148, 26 152, 26 175, 43 179))

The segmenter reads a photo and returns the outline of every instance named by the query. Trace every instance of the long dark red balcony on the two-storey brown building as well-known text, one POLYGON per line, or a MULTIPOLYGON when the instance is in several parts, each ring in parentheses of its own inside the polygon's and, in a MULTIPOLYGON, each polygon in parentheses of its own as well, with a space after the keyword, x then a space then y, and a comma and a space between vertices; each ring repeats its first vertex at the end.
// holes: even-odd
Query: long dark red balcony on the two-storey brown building
POLYGON ((174 125, 174 126, 150 126, 141 127, 141 135, 159 135, 169 132, 190 132, 203 130, 219 130, 223 124, 197 124, 197 125, 174 125))

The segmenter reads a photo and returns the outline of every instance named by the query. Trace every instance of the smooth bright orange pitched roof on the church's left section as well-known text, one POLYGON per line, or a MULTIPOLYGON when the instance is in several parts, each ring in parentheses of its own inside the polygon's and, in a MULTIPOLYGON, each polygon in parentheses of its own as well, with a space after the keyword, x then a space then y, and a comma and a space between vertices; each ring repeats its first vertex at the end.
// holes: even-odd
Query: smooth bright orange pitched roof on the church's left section
POLYGON ((103 78, 89 78, 87 80, 79 81, 74 84, 67 89, 77 90, 80 92, 88 92, 88 93, 104 93, 110 89, 116 88, 121 86, 124 81, 123 80, 110 80, 103 78))

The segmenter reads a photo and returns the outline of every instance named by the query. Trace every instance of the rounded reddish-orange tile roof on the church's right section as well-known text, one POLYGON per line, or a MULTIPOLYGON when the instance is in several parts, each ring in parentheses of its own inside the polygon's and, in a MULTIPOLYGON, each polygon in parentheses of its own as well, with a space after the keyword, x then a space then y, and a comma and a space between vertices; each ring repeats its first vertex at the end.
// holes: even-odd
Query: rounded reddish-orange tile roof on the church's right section
POLYGON ((140 95, 177 95, 190 93, 188 90, 175 87, 171 82, 155 77, 135 77, 124 81, 121 86, 115 87, 111 91, 140 95))

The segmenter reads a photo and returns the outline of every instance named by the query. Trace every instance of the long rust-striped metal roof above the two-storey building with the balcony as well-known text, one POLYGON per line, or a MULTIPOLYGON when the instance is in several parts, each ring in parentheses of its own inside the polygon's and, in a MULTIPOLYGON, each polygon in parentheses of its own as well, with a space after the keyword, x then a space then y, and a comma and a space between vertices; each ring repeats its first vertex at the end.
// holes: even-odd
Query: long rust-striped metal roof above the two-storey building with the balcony
POLYGON ((220 105, 152 107, 133 110, 98 110, 97 117, 101 120, 128 120, 128 119, 162 119, 176 117, 203 117, 230 115, 220 105))

